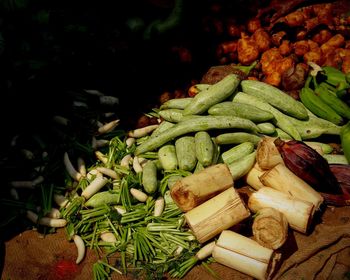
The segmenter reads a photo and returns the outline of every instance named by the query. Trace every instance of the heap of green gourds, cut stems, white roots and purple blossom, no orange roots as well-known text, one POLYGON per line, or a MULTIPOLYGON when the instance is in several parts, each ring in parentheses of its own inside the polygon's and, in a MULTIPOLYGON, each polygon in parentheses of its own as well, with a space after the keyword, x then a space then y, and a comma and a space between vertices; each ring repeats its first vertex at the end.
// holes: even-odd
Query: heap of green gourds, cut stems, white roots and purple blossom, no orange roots
POLYGON ((66 187, 45 194, 44 176, 11 182, 41 187, 45 208, 25 206, 28 219, 65 228, 77 264, 94 250, 94 279, 182 278, 197 264, 215 275, 213 261, 266 279, 289 228, 307 234, 323 206, 349 205, 349 119, 333 123, 237 74, 195 88, 148 113, 155 124, 117 130, 111 120, 88 152, 66 149, 66 187), (344 153, 324 135, 341 138, 344 153), (233 231, 239 224, 251 233, 233 231))

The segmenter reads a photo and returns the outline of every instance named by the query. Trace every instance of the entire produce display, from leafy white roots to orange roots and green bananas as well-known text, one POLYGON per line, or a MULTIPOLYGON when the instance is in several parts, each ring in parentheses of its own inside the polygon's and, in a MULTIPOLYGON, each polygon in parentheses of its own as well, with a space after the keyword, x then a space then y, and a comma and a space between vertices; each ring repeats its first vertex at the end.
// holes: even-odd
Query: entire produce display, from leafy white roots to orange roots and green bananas
MULTIPOLYGON (((198 265, 216 277, 212 263, 273 279, 293 231, 307 236, 325 208, 350 205, 349 54, 342 35, 326 36, 340 30, 323 21, 333 8, 305 7, 271 21, 268 29, 254 28, 260 25, 253 19, 251 37, 242 35, 230 53, 237 53, 240 65, 213 66, 187 95, 145 112, 143 125, 125 127, 110 112, 103 122, 91 114, 79 119, 89 127, 86 136, 71 133, 72 121, 55 116, 63 152, 45 151, 42 139, 32 137, 35 154, 20 151, 33 167, 30 179, 10 181, 13 199, 2 203, 21 209, 39 232, 64 228, 64 242, 76 246, 77 265, 93 251, 93 279, 183 278, 198 265), (275 36, 268 38, 266 30, 305 22, 309 28, 314 18, 329 30, 295 43, 282 40, 287 33, 280 31, 281 45, 271 47, 275 36), (304 43, 307 51, 297 54, 304 43), (298 58, 281 54, 283 47, 298 58), (274 66, 267 65, 274 55, 274 66), (341 67, 333 63, 336 55, 341 67), (283 71, 275 69, 284 63, 283 71), (285 70, 297 67, 305 72, 288 88, 285 70), (51 175, 64 185, 47 186, 51 175), (37 189, 39 198, 23 200, 37 189)), ((297 38, 306 36, 302 31, 314 32, 299 30, 297 38)), ((100 105, 114 100, 99 91, 83 96, 100 105)), ((76 105, 86 113, 85 105, 76 105)))

